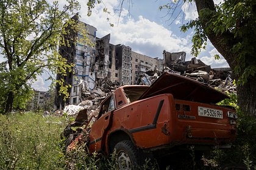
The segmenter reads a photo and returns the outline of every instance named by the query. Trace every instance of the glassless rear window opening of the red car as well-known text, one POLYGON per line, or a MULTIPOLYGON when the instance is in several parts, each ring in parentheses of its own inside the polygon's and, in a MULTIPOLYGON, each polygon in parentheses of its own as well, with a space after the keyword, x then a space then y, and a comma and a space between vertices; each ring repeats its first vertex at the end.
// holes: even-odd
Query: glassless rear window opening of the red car
POLYGON ((126 94, 128 103, 137 101, 148 87, 149 86, 125 87, 124 93, 126 94))

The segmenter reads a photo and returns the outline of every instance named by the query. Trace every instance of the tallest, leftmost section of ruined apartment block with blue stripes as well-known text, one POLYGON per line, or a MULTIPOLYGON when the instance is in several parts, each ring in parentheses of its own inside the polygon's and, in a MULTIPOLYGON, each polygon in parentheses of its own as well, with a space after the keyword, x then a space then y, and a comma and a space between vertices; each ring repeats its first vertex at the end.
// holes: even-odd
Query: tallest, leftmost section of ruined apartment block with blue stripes
POLYGON ((63 100, 63 95, 59 95, 60 85, 56 85, 55 106, 63 108, 65 104, 80 103, 80 87, 79 84, 83 81, 87 82, 88 89, 94 88, 95 72, 91 68, 98 66, 95 64, 96 55, 96 31, 92 25, 78 21, 78 16, 73 17, 79 25, 79 31, 75 31, 68 27, 69 34, 64 35, 66 45, 59 47, 59 53, 66 58, 68 62, 74 63, 73 72, 68 72, 65 77, 57 74, 57 80, 63 78, 66 84, 71 84, 68 88, 69 99, 63 100), (87 39, 84 38, 86 34, 87 39), (67 46, 68 45, 68 46, 67 46), (94 65, 93 65, 94 64, 94 65))

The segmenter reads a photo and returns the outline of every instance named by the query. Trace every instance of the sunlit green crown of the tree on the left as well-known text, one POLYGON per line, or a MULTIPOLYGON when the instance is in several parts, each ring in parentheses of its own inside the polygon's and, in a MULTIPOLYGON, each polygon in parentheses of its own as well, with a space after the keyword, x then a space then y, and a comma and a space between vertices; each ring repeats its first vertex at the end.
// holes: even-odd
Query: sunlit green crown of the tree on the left
POLYGON ((63 75, 71 71, 73 65, 59 55, 58 47, 66 44, 65 27, 76 24, 69 16, 79 4, 70 0, 60 10, 58 1, 4 0, 0 9, 0 50, 7 60, 0 66, 0 91, 4 95, 0 109, 9 104, 5 111, 10 111, 13 100, 17 107, 24 107, 31 92, 29 82, 44 69, 63 75))

